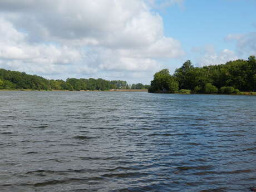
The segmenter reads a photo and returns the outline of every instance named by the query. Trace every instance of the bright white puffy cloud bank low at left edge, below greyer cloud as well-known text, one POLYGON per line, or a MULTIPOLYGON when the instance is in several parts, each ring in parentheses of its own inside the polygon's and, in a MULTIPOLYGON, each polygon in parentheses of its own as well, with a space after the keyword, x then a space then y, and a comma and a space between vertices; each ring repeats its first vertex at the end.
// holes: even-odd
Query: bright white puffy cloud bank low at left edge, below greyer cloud
POLYGON ((40 65, 64 65, 81 58, 81 53, 73 48, 45 43, 32 45, 26 41, 27 37, 26 33, 17 31, 12 23, 0 18, 0 59, 12 69, 17 66, 26 69, 25 65, 32 63, 35 68, 40 65))

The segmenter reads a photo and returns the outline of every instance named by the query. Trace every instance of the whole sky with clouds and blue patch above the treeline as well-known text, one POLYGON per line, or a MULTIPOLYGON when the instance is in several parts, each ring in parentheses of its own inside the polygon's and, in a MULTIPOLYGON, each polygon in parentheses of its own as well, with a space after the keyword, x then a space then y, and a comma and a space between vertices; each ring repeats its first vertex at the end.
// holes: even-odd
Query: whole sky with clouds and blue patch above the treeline
POLYGON ((1 0, 0 68, 150 84, 256 55, 255 0, 1 0))

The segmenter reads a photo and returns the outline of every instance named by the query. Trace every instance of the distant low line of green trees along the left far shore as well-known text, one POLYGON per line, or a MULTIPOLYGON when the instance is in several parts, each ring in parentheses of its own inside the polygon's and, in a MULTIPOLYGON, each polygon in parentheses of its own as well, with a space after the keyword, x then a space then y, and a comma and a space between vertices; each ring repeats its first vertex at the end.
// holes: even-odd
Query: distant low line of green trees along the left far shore
POLYGON ((142 83, 128 85, 126 81, 107 81, 102 78, 67 78, 63 80, 47 80, 37 75, 25 72, 0 69, 0 89, 4 90, 110 90, 110 89, 140 89, 148 88, 142 83))

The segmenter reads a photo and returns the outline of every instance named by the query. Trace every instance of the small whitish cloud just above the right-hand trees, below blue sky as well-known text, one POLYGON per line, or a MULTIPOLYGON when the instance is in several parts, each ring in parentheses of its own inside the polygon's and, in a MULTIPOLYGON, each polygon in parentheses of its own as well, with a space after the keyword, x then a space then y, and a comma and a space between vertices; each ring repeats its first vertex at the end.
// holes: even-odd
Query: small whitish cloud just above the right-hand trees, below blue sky
POLYGON ((224 64, 238 59, 234 51, 228 49, 216 51, 212 45, 194 47, 192 51, 199 54, 196 61, 198 66, 224 64))

